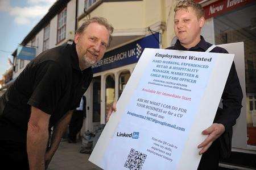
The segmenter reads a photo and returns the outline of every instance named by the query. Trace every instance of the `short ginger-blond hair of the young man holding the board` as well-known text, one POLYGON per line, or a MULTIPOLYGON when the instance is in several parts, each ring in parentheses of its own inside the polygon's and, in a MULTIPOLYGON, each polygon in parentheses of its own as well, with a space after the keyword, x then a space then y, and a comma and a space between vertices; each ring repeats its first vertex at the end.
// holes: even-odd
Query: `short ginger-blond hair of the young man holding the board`
POLYGON ((177 3, 174 8, 174 12, 176 13, 177 10, 188 10, 188 7, 191 7, 195 13, 197 18, 204 17, 204 9, 201 4, 194 2, 193 0, 182 0, 177 3))

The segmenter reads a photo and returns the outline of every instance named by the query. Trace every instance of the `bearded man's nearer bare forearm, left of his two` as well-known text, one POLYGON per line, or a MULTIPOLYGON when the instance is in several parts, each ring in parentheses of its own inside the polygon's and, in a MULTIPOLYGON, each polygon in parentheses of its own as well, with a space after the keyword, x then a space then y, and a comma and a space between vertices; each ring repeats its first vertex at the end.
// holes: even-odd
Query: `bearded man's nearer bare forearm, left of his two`
POLYGON ((30 169, 45 169, 44 155, 48 142, 48 129, 39 128, 28 122, 27 155, 30 169))

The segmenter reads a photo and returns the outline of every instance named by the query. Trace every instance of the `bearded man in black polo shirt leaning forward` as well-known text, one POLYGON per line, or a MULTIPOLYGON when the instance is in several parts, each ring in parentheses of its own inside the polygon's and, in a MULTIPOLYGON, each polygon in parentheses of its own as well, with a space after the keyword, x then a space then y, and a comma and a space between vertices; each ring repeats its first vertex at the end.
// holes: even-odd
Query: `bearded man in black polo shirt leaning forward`
POLYGON ((104 56, 113 27, 86 20, 75 43, 32 60, 0 98, 0 160, 9 169, 45 169, 92 80, 91 66, 104 56), (50 147, 48 130, 53 128, 50 147), (28 167, 29 164, 29 167, 28 167))

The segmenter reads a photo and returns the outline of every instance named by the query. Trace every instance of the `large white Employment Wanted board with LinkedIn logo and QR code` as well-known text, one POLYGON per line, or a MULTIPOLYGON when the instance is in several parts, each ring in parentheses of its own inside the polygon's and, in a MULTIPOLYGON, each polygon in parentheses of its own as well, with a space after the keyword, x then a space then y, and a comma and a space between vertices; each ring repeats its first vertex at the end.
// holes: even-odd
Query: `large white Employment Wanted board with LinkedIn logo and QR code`
POLYGON ((144 49, 89 160, 103 169, 197 169, 234 55, 144 49))

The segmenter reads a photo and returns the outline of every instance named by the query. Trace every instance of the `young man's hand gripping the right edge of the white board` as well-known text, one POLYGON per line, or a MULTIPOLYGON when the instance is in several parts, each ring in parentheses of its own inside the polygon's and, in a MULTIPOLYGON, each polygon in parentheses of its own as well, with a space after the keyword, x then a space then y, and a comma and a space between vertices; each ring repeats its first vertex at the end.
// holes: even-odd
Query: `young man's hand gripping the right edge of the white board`
POLYGON ((225 132, 225 127, 221 123, 213 123, 212 126, 205 129, 202 134, 208 135, 208 137, 199 144, 197 148, 202 148, 199 152, 199 155, 204 154, 208 148, 212 145, 214 140, 220 137, 225 132))

